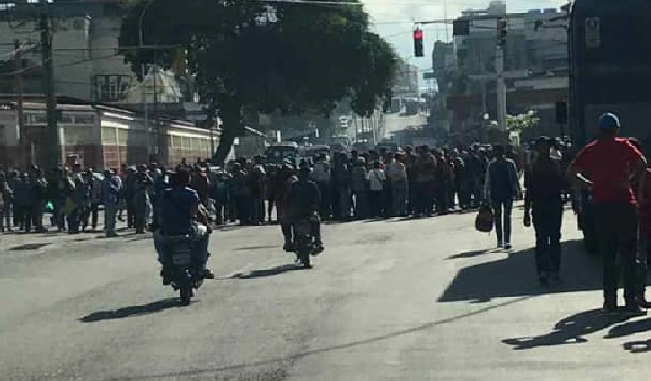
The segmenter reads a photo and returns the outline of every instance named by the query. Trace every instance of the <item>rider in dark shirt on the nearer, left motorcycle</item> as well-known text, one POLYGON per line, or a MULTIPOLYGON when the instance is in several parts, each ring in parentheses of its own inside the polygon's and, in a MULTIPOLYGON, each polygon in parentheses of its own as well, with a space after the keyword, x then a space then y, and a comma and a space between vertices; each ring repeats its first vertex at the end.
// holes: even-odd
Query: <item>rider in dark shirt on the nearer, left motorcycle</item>
POLYGON ((170 283, 172 271, 170 269, 170 253, 166 253, 167 237, 189 235, 193 240, 193 256, 201 261, 199 268, 204 271, 205 279, 214 276, 206 268, 208 259, 208 240, 212 229, 208 224, 207 210, 201 204, 197 191, 189 188, 190 174, 185 168, 177 169, 170 177, 171 189, 165 190, 159 204, 159 230, 154 232, 154 245, 158 252, 158 261, 163 266, 161 275, 163 284, 170 283), (195 225, 203 224, 207 227, 207 234, 199 234, 195 225))

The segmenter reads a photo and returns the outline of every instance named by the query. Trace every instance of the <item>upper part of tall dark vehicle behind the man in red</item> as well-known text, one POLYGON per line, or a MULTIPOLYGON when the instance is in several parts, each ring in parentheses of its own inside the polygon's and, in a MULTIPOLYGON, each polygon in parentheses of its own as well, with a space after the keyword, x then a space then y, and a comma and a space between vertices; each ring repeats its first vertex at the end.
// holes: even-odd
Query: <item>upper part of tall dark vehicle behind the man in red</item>
POLYGON ((576 0, 570 12, 570 132, 576 146, 597 134, 604 112, 621 133, 651 153, 651 4, 647 0, 576 0))

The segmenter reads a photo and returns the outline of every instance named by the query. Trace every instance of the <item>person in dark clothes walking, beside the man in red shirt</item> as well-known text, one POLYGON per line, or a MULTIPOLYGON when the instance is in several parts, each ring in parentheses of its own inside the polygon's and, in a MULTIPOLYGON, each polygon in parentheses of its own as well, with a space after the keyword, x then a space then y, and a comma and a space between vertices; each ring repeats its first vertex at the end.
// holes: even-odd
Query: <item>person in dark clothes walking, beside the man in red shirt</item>
POLYGON ((536 232, 536 270, 541 284, 560 281, 560 229, 563 219, 562 192, 565 175, 559 160, 550 155, 550 138, 540 137, 538 155, 524 173, 524 226, 536 232))

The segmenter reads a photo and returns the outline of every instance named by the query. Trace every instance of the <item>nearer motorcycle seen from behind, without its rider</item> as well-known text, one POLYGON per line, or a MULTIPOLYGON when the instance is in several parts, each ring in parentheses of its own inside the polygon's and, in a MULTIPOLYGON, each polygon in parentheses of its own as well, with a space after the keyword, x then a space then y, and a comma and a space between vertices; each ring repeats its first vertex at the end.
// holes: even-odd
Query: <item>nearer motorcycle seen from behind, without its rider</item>
POLYGON ((170 237, 168 244, 172 260, 170 286, 180 292, 180 303, 189 306, 194 296, 193 289, 203 284, 203 270, 193 259, 193 242, 189 236, 170 237))

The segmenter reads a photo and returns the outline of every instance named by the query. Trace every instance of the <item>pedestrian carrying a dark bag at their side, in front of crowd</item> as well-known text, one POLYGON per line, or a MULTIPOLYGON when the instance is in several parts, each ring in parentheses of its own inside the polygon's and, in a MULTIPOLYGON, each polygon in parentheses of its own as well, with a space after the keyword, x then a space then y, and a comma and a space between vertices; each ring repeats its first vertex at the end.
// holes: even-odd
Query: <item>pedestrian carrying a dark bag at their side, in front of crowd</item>
POLYGON ((505 156, 504 146, 493 146, 495 159, 488 164, 484 194, 493 208, 497 247, 509 250, 511 244, 511 212, 513 201, 520 194, 517 168, 505 156))

